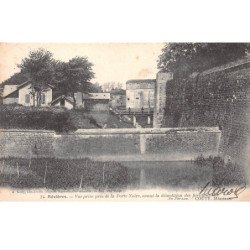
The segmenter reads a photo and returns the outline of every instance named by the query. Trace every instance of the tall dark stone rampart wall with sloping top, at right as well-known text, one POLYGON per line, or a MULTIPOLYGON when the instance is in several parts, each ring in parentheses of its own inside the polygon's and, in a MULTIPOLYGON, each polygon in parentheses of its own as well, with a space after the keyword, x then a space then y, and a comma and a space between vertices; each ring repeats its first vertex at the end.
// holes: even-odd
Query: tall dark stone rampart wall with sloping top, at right
POLYGON ((193 75, 178 86, 172 82, 168 87, 165 127, 219 126, 222 131, 221 154, 244 163, 247 161, 249 60, 216 67, 193 75))

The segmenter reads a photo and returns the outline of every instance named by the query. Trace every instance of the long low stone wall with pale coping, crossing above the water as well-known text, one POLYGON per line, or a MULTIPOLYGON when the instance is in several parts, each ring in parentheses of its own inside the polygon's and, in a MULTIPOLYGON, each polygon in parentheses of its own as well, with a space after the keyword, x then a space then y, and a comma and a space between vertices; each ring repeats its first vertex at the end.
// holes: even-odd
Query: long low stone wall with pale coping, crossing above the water
POLYGON ((180 161, 218 153, 218 128, 1 130, 1 157, 57 157, 116 161, 180 161))

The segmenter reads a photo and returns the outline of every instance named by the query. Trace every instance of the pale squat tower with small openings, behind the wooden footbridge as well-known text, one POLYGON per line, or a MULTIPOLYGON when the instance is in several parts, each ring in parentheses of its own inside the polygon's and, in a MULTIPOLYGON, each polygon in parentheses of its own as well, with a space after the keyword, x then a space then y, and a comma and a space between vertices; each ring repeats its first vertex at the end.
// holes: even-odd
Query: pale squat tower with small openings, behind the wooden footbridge
POLYGON ((126 109, 151 110, 154 108, 155 79, 137 79, 126 82, 126 109))

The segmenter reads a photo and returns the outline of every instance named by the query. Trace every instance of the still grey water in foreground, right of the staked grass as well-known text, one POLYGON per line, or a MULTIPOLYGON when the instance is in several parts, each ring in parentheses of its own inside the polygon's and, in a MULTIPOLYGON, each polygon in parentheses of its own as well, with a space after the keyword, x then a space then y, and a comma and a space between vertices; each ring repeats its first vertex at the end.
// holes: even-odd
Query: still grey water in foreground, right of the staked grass
POLYGON ((212 180, 210 167, 190 161, 122 162, 128 168, 130 188, 200 188, 212 180))

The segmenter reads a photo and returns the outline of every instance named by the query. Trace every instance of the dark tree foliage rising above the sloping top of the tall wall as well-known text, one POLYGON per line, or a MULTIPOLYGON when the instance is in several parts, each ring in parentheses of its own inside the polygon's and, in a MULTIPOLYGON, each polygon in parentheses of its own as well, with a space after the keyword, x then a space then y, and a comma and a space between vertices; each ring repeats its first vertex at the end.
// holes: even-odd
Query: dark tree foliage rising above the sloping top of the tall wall
POLYGON ((185 78, 193 72, 216 67, 246 56, 246 43, 170 43, 159 56, 158 68, 185 78))

